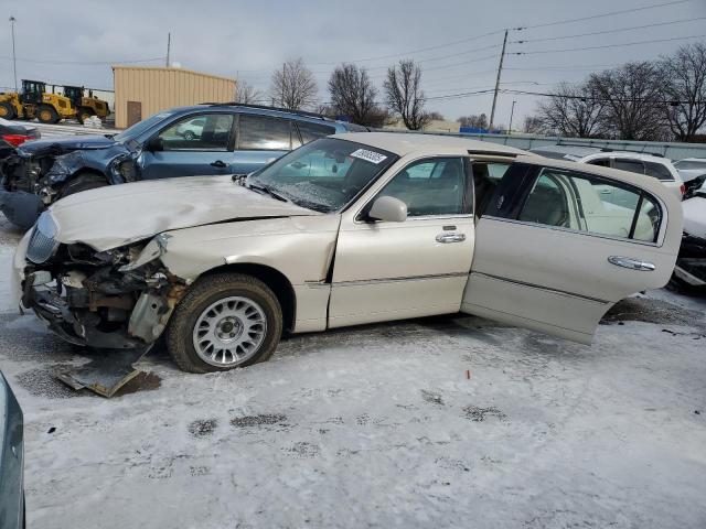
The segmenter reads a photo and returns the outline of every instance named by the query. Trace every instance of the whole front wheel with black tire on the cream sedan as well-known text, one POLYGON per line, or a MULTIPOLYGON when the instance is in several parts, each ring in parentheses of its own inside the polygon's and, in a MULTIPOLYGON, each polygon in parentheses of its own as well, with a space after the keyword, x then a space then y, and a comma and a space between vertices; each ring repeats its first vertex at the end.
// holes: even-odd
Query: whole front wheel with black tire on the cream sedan
POLYGON ((281 334, 282 311, 267 284, 252 276, 217 273, 200 279, 176 305, 167 327, 167 349, 183 371, 226 371, 269 359, 281 334), (250 323, 248 327, 234 316, 245 311, 248 311, 245 320, 250 323), (226 326, 228 319, 237 320, 235 327, 226 326), (229 336, 236 337, 229 338, 229 336), (243 341, 245 335, 247 338, 243 341), (243 355, 233 354, 238 350, 237 344, 248 341, 252 346, 242 346, 243 355), (199 342, 201 354, 196 350, 199 342), (206 360, 208 355, 215 356, 206 360))

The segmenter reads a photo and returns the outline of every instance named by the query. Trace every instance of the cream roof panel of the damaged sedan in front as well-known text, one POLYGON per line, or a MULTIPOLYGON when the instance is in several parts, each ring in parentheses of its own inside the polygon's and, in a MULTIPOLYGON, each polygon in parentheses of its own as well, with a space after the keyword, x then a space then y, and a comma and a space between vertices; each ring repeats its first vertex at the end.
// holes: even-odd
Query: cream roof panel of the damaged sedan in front
POLYGON ((365 145, 382 149, 399 156, 409 153, 419 154, 468 154, 483 153, 517 156, 526 151, 514 147, 491 143, 456 136, 425 134, 415 132, 347 132, 334 134, 332 138, 355 141, 365 145))

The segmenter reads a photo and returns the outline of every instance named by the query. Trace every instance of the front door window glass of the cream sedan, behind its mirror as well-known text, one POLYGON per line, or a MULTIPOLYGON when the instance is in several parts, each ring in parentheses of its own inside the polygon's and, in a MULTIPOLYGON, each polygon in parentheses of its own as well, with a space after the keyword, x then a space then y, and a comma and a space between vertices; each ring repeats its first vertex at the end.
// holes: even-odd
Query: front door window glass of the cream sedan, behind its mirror
POLYGON ((413 162, 396 174, 378 196, 399 198, 407 204, 410 217, 471 212, 462 158, 413 162))

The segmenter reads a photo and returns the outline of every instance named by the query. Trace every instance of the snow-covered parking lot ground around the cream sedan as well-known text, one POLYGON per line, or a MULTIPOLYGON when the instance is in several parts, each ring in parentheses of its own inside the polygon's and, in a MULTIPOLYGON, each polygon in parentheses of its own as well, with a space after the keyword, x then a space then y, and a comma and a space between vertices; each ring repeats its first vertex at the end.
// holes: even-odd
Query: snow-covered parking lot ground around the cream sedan
MULTIPOLYGON (((7 270, 19 234, 0 225, 7 270)), ((466 315, 301 335, 214 375, 161 350, 104 399, 7 302, 28 527, 706 526, 706 300, 622 302, 590 347, 466 315)))

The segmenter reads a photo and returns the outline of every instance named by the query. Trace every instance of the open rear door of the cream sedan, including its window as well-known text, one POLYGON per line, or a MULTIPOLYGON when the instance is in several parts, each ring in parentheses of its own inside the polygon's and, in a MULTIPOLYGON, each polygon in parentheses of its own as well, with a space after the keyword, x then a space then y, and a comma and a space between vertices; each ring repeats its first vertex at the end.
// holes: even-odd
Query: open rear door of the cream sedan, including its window
POLYGON ((645 187, 514 164, 478 222, 461 310, 590 343, 613 303, 663 287, 674 268, 678 203, 645 187))

